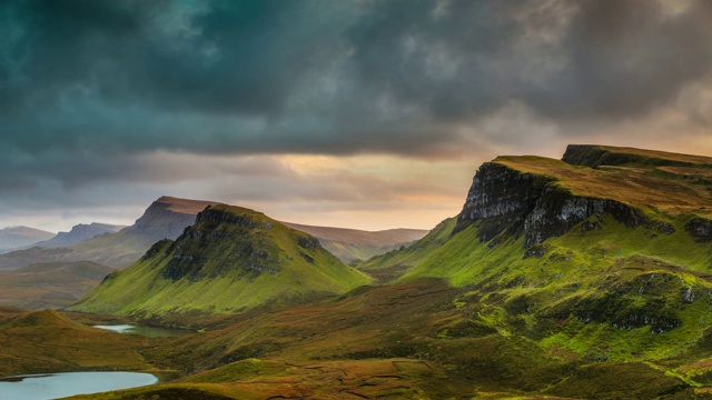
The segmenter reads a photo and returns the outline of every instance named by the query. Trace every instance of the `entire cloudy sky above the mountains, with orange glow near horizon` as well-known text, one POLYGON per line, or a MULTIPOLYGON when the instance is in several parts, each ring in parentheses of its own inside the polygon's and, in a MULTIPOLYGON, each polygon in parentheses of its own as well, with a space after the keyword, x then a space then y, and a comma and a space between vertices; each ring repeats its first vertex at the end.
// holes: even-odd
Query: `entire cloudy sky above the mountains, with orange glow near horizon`
POLYGON ((498 154, 712 156, 712 1, 0 1, 0 226, 431 229, 498 154))

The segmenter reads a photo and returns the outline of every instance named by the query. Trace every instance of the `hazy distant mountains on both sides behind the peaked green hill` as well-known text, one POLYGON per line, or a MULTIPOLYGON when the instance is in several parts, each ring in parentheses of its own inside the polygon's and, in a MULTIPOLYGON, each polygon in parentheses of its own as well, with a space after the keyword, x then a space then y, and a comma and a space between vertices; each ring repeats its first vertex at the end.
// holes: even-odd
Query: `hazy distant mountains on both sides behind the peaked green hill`
MULTIPOLYGON (((161 239, 176 239, 195 223, 196 214, 215 201, 161 197, 135 224, 120 227, 106 223, 78 224, 33 247, 0 254, 0 270, 41 262, 92 261, 125 268, 138 260, 151 244, 161 239)), ((344 262, 366 260, 397 249, 424 237, 426 230, 392 229, 368 232, 355 229, 312 227, 286 223, 312 233, 325 249, 344 262)), ((27 228, 31 229, 31 228, 27 228)), ((51 234, 48 232, 48 234, 51 234)))

